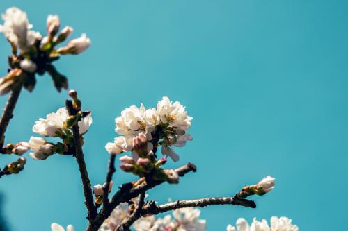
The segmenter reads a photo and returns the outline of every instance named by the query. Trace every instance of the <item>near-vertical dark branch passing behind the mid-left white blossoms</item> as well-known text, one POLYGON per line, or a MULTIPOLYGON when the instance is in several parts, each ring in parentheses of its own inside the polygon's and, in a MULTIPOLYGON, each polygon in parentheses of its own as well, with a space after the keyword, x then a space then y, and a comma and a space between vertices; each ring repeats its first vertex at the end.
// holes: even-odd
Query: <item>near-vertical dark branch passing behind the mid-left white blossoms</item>
MULTIPOLYGON (((72 106, 72 101, 70 100, 66 101, 66 108, 69 112, 69 115, 77 114, 77 111, 74 110, 72 106)), ((76 158, 77 164, 79 164, 81 181, 84 187, 85 205, 88 210, 87 219, 91 221, 92 219, 95 218, 95 216, 97 216, 97 209, 94 205, 92 189, 90 187, 90 180, 88 177, 86 162, 84 159, 84 152, 82 151, 81 136, 79 134, 79 126, 77 123, 74 126, 72 126, 72 133, 74 135, 75 158, 76 158)))

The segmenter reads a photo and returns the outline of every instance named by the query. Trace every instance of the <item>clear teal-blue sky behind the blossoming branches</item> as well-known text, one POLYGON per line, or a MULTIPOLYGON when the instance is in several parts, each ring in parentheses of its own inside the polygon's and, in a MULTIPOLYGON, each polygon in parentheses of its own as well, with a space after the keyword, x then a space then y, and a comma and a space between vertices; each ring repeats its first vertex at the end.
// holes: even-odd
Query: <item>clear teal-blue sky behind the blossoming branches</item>
MULTIPOLYGON (((177 150, 198 172, 161 185, 150 199, 233 196, 271 175, 276 188, 255 197, 257 209, 202 209, 207 230, 238 217, 288 216, 300 230, 342 230, 347 220, 347 1, 324 0, 1 0, 18 6, 36 30, 49 13, 87 33, 90 49, 56 62, 93 111, 86 161, 93 184, 104 182, 114 118, 129 105, 154 107, 161 96, 181 101, 194 117, 194 141, 177 150)), ((0 36, 0 70, 10 46, 0 36)), ((7 96, 0 99, 4 105, 7 96)), ((8 142, 28 140, 39 117, 63 106, 49 76, 24 92, 8 142)), ((3 156, 3 166, 14 156, 3 156)), ((118 171, 117 186, 134 180, 118 171)), ((86 227, 81 183, 72 157, 29 160, 18 176, 1 178, 13 231, 49 230, 52 222, 86 227)))

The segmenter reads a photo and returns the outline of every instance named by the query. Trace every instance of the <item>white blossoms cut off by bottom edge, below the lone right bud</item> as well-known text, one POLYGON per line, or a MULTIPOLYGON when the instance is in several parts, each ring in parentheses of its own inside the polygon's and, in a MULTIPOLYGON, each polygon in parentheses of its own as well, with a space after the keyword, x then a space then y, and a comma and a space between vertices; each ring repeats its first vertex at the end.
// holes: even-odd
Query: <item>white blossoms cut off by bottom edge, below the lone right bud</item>
POLYGON ((248 224, 248 222, 240 218, 237 220, 236 223, 237 228, 235 228, 232 225, 228 225, 226 230, 227 231, 299 231, 299 228, 297 225, 292 224, 292 220, 288 219, 285 216, 282 216, 280 218, 276 216, 271 217, 271 226, 268 225, 267 221, 265 219, 262 219, 262 221, 256 220, 256 218, 253 219, 253 222, 251 225, 248 224))

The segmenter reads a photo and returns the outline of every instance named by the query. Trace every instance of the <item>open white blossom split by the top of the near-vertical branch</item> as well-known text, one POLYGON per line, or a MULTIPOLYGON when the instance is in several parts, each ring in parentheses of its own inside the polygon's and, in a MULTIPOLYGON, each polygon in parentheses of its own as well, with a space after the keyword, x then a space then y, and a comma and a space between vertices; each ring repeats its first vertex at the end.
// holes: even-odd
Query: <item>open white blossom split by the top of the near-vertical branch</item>
MULTIPOLYGON (((40 118, 33 126, 33 132, 49 137, 61 136, 64 123, 68 119, 69 114, 66 108, 59 108, 55 113, 47 114, 46 119, 40 118)), ((78 123, 80 135, 87 132, 90 124, 92 124, 92 116, 88 114, 78 123)))

